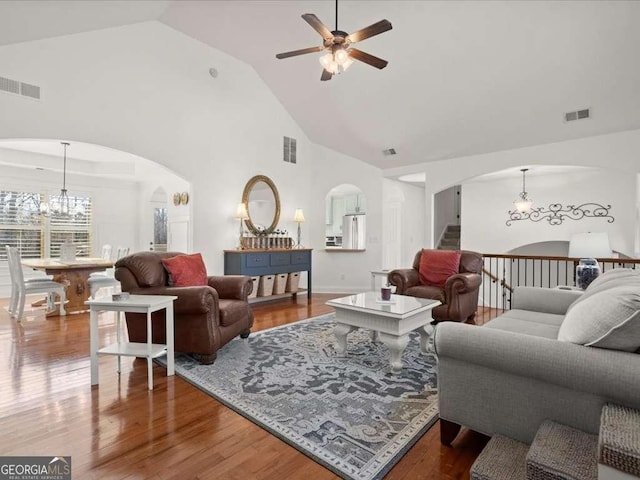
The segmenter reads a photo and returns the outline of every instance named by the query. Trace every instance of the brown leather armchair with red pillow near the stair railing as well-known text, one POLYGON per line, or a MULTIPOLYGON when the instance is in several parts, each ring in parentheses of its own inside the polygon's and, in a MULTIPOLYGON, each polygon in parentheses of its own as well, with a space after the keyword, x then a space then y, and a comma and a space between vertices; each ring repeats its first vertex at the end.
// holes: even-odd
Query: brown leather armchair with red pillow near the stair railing
POLYGON ((420 282, 420 250, 413 260, 413 268, 397 269, 389 272, 388 280, 395 285, 396 293, 412 297, 440 300, 442 305, 432 310, 434 322, 450 320, 473 322, 478 308, 478 294, 482 282, 482 255, 462 250, 460 268, 457 275, 449 277, 444 288, 424 285, 420 282))

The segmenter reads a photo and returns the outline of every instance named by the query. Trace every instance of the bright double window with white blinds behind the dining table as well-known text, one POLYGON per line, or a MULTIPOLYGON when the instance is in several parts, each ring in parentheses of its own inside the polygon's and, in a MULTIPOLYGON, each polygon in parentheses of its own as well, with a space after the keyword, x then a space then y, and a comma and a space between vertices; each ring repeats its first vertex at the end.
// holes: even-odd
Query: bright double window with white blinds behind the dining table
MULTIPOLYGON (((76 244, 79 257, 91 256, 91 198, 69 197, 70 215, 47 217, 40 214, 44 198, 38 192, 0 190, 0 260, 6 260, 4 245, 18 247, 23 258, 57 258, 67 239, 76 244)), ((55 198, 49 196, 49 205, 55 198)))

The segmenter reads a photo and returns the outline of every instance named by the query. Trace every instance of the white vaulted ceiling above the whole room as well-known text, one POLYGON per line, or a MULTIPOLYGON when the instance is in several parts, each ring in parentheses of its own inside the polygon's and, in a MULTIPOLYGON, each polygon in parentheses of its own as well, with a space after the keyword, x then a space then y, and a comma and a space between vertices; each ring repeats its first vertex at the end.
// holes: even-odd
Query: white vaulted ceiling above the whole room
POLYGON ((393 24, 357 44, 389 65, 328 82, 319 53, 275 58, 321 44, 304 13, 335 28, 329 0, 5 0, 0 45, 157 20, 252 65, 312 141, 381 168, 640 128, 640 2, 340 0, 340 30, 393 24))

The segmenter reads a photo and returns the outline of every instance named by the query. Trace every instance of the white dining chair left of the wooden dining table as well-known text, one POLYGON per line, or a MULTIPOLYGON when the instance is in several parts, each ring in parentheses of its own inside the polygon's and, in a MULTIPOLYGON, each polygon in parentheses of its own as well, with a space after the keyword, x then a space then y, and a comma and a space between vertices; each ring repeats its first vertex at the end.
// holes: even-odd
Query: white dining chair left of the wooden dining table
POLYGON ((47 294, 47 310, 55 308, 55 297, 60 297, 60 315, 66 315, 64 304, 67 301, 64 285, 54 282, 50 278, 34 278, 25 280, 20 263, 20 251, 16 247, 6 245, 9 275, 11 277, 11 300, 9 301, 9 315, 22 320, 26 296, 32 293, 47 294))

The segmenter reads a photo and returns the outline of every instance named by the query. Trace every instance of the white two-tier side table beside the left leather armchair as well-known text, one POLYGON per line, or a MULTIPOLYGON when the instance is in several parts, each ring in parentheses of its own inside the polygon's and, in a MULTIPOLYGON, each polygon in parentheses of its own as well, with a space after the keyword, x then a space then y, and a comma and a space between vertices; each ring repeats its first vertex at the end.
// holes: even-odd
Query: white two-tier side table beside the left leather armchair
POLYGON ((110 297, 88 300, 91 322, 91 385, 98 384, 98 354, 117 355, 118 373, 120 373, 120 357, 142 357, 147 359, 149 390, 153 390, 153 364, 152 359, 167 353, 167 376, 174 374, 174 350, 173 350, 173 301, 178 297, 170 295, 130 295, 126 300, 112 300, 110 297), (166 344, 151 343, 151 314, 155 311, 166 309, 166 344), (117 312, 116 338, 117 343, 98 350, 98 315, 100 312, 117 312), (134 343, 120 341, 120 312, 146 313, 147 314, 147 343, 134 343))

